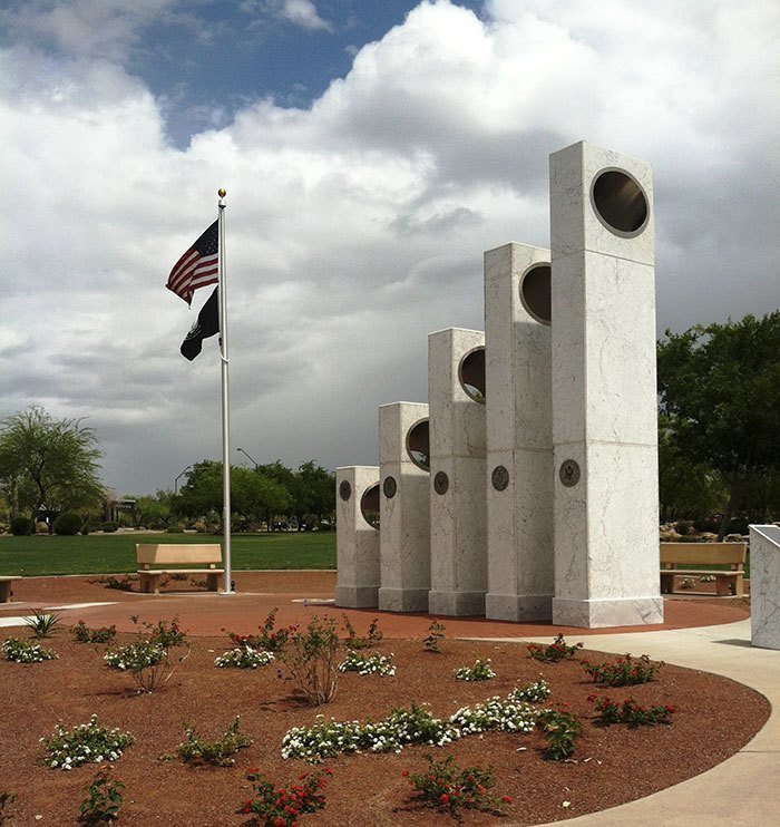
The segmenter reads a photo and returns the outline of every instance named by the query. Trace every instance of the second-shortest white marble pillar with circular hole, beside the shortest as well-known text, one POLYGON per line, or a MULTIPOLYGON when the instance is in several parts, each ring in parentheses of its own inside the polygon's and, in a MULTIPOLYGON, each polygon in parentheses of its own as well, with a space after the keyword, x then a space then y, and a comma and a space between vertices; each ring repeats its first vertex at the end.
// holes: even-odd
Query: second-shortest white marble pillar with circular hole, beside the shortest
POLYGON ((428 405, 379 408, 379 607, 427 612, 430 588, 428 405))

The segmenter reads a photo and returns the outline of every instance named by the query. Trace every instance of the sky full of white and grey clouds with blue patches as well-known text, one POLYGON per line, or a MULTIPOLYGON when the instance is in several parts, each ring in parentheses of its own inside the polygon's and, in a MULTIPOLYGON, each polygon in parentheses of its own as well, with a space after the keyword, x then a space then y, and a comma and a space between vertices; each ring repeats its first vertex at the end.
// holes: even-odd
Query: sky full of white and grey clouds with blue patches
POLYGON ((780 305, 777 0, 0 0, 0 416, 86 417, 123 494, 221 456, 168 271, 227 189, 235 463, 377 463, 548 155, 652 163, 657 332, 780 305))

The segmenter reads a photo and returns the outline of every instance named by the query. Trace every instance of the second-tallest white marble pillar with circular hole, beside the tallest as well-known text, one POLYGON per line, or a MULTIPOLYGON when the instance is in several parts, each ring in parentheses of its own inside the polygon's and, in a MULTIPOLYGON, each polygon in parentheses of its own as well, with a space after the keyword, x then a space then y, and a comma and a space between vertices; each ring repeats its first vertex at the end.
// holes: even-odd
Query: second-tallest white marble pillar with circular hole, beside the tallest
POLYGON ((488 593, 496 620, 553 611, 549 251, 485 253, 488 593))

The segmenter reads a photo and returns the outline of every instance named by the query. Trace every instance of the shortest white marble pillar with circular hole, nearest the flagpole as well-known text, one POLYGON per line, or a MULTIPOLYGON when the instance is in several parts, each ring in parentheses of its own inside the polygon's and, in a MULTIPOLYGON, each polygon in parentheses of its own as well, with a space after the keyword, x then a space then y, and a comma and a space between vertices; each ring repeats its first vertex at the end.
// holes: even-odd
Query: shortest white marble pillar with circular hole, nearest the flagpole
POLYGON ((335 605, 379 603, 379 467, 335 469, 335 605))

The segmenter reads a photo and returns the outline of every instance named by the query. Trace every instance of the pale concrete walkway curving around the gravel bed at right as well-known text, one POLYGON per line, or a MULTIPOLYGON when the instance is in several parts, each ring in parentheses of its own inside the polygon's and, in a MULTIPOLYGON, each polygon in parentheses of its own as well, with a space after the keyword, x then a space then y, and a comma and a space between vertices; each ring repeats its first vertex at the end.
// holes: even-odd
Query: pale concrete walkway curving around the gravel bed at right
MULTIPOLYGON (((539 638, 537 642, 549 643, 549 639, 539 638)), ((751 645, 750 620, 699 629, 599 635, 588 643, 615 654, 641 650, 654 660, 731 678, 764 695, 772 712, 749 743, 711 770, 636 801, 556 825, 780 824, 780 652, 751 645)))

